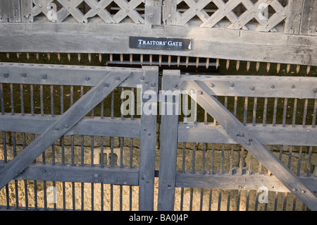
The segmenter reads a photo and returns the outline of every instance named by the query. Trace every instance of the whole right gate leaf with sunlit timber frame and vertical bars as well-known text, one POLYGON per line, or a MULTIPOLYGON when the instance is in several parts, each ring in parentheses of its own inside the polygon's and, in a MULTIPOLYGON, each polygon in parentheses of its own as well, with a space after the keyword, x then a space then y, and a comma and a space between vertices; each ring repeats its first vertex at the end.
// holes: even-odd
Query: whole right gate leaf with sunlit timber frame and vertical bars
MULTIPOLYGON (((300 162, 299 167, 295 169, 291 168, 290 164, 294 147, 297 145, 310 146, 309 157, 311 158, 313 146, 317 145, 316 138, 313 138, 317 135, 315 128, 316 83, 316 78, 180 75, 180 71, 164 71, 162 90, 170 92, 168 92, 169 98, 162 104, 173 107, 174 111, 173 114, 165 112, 166 114, 161 117, 158 209, 174 209, 176 188, 181 188, 180 209, 184 202, 184 188, 191 188, 189 209, 192 208, 192 188, 201 188, 200 204, 202 208, 203 189, 214 188, 240 190, 240 192, 241 190, 258 190, 256 204, 259 200, 259 193, 261 195, 263 190, 292 193, 309 209, 316 210, 315 175, 310 174, 309 167, 305 174, 300 174, 300 169, 297 169, 300 168, 300 162), (190 116, 193 116, 191 121, 186 118, 189 115, 187 107, 180 108, 178 100, 180 101, 182 94, 189 95, 191 101, 194 100, 198 104, 196 107, 193 104, 190 109, 190 116), (220 103, 221 97, 223 104, 220 103), (230 97, 234 98, 233 104, 228 103, 230 97), (237 118, 238 97, 244 99, 242 103, 244 111, 239 119, 237 118), (270 108, 273 111, 273 114, 270 114, 273 116, 271 124, 268 123, 270 99, 273 99, 274 102, 273 109, 270 108), (282 109, 278 109, 280 99, 284 101, 284 104, 280 104, 284 105, 282 109), (288 100, 290 99, 294 99, 292 121, 287 118, 287 114, 289 114, 287 108, 290 106, 288 100), (304 99, 304 118, 301 124, 295 120, 298 117, 296 109, 298 99, 304 99), (249 111, 247 110, 248 102, 253 102, 253 107, 249 111), (258 118, 260 102, 263 104, 261 108, 263 123, 259 123, 258 118), (308 106, 310 106, 309 115, 313 117, 311 125, 306 123, 308 106), (198 107, 204 111, 204 120, 200 123, 197 122, 197 115, 193 115, 199 111, 198 107), (233 109, 228 107, 233 107, 233 109), (185 112, 181 110, 185 110, 185 112), (186 120, 179 121, 180 116, 182 118, 185 116, 186 120), (181 143, 184 143, 183 150, 178 148, 181 143), (197 143, 203 143, 200 158, 197 157, 199 153, 197 143), (207 145, 210 143, 213 144, 213 147, 208 149, 207 145), (221 154, 218 167, 215 166, 215 144, 222 144, 220 145, 221 154), (225 152, 228 152, 225 149, 228 148, 228 144, 232 147, 229 147, 230 154, 225 156, 225 152), (242 152, 247 150, 251 154, 251 159, 259 160, 257 163, 261 168, 254 169, 251 163, 247 167, 240 164, 235 168, 233 162, 235 152, 233 145, 235 144, 242 147, 242 152), (273 154, 268 145, 290 145, 290 149, 287 150, 290 156, 288 163, 282 162, 281 154, 280 157, 273 154), (188 147, 192 147, 189 150, 190 154, 188 147), (207 157, 207 150, 211 152, 209 157, 207 157), (189 157, 189 162, 186 160, 187 157, 189 157), (197 159, 201 161, 198 162, 197 159), (200 166, 197 166, 198 163, 200 166), (207 166, 207 164, 209 165, 207 166), (262 165, 268 171, 263 171, 262 165), (218 168, 218 171, 214 168, 218 168)), ((188 99, 182 99, 182 106, 187 105, 188 102, 190 102, 188 99)), ((166 107, 163 108, 166 109, 166 107)), ((302 154, 302 150, 300 153, 302 154)), ((244 159, 240 157, 240 160, 244 159)), ((267 200, 265 203, 268 203, 267 200)), ((211 200, 209 200, 209 204, 211 204, 211 200)), ((228 209, 229 205, 230 194, 228 195, 228 209)), ((210 207, 211 205, 209 205, 209 209, 210 207)), ((218 207, 220 207, 219 204, 218 207)))

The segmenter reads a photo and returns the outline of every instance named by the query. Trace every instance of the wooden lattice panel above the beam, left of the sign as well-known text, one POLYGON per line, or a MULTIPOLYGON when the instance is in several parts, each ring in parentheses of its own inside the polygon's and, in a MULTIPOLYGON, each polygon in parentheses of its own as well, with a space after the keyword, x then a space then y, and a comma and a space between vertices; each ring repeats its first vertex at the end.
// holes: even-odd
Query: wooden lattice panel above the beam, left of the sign
POLYGON ((33 0, 33 16, 44 13, 52 22, 63 22, 68 16, 72 16, 78 23, 88 23, 89 18, 99 16, 106 23, 120 23, 129 17, 134 23, 144 23, 144 17, 135 9, 144 0, 33 0), (62 8, 57 8, 60 4, 62 8), (80 4, 89 8, 87 12, 80 10, 80 4), (111 14, 109 6, 116 4, 119 10, 111 14))

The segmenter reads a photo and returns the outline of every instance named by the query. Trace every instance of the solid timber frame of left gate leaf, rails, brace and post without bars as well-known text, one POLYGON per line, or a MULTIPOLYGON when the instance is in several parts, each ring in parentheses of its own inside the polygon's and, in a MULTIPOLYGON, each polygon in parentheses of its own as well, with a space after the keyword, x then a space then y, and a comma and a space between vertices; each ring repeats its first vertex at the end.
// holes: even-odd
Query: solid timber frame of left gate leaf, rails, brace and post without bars
MULTIPOLYGON (((157 66, 142 66, 142 69, 135 69, 0 63, 0 73, 3 74, 0 77, 0 83, 93 86, 68 111, 50 119, 47 119, 47 116, 39 118, 39 116, 26 114, 6 115, 3 111, 4 107, 1 106, 0 120, 6 121, 5 125, 1 126, 2 131, 42 131, 37 131, 41 135, 10 162, 0 164, 0 189, 15 178, 137 185, 139 186, 139 210, 154 209, 156 115, 142 114, 141 118, 134 118, 131 122, 125 121, 125 119, 116 122, 110 118, 104 118, 99 120, 101 125, 97 126, 98 129, 92 131, 86 129, 89 126, 96 126, 97 123, 94 119, 85 118, 85 115, 119 85, 121 87, 142 85, 144 91, 154 90, 157 92, 159 83, 159 68, 157 66), (25 126, 20 126, 21 124, 25 126), (119 126, 119 128, 116 132, 109 128, 101 129, 101 126, 119 126), (124 135, 129 137, 127 132, 122 134, 120 130, 133 126, 137 126, 135 129, 139 130, 139 133, 131 132, 133 137, 137 136, 140 140, 139 169, 30 165, 39 154, 54 144, 62 135, 87 135, 90 133, 90 135, 119 137, 124 135), (74 171, 76 171, 76 176, 73 176, 74 171)), ((3 99, 3 94, 1 89, 1 99, 3 99)))

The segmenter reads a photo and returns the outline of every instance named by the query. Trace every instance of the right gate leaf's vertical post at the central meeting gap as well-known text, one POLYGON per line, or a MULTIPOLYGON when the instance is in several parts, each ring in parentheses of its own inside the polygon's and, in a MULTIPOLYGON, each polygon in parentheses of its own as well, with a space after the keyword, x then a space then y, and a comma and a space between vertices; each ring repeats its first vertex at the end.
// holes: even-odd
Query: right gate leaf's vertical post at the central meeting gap
MULTIPOLYGON (((178 90, 180 71, 163 71, 162 90, 178 90)), ((177 98, 177 97, 176 97, 177 98)), ((173 107, 179 102, 161 102, 164 109, 173 107)), ((161 107, 163 108, 163 107, 161 107)), ((178 114, 166 115, 161 112, 160 127, 160 165, 159 165, 159 200, 158 210, 172 211, 175 200, 176 157, 178 150, 178 114)))

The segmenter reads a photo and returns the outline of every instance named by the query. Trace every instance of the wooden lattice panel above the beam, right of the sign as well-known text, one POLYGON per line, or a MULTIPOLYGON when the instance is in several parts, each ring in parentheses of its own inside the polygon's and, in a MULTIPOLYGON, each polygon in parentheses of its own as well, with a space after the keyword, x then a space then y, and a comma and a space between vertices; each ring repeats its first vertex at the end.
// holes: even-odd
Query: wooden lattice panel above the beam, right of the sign
MULTIPOLYGON (((180 12, 180 8, 175 11, 175 25, 187 25, 194 17, 198 17, 202 23, 201 27, 213 28, 218 27, 218 23, 227 18, 230 21, 228 29, 233 30, 249 30, 247 24, 251 20, 256 20, 259 25, 256 27, 258 31, 276 31, 275 26, 285 20, 287 16, 287 6, 282 6, 278 0, 259 0, 253 3, 251 0, 178 0, 178 5, 187 4, 189 7, 185 12, 180 12), (213 4, 216 9, 213 13, 207 13, 206 6, 213 4), (237 16, 235 8, 240 6, 240 15, 237 16), (270 8, 270 13, 264 14, 270 8)), ((166 6, 168 7, 168 6, 166 6)))

